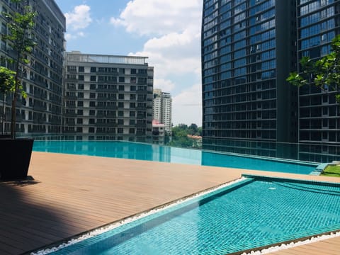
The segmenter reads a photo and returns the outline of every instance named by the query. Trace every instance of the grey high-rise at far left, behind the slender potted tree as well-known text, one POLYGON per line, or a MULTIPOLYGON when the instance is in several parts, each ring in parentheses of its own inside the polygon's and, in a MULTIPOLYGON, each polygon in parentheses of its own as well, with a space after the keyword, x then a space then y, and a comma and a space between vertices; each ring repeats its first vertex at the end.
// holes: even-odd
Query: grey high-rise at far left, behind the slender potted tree
MULTIPOLYGON (((30 64, 23 69, 22 84, 27 98, 17 103, 17 132, 58 133, 62 123, 62 64, 64 53, 65 17, 54 0, 24 1, 33 6, 38 15, 32 37, 36 42, 29 57, 30 64)), ((20 11, 20 4, 0 0, 2 12, 20 11)), ((1 33, 7 33, 7 25, 0 17, 1 33)), ((6 58, 16 56, 11 42, 1 40, 0 64, 13 69, 6 58)), ((2 96, 0 109, 2 110, 2 96)), ((5 99, 4 132, 10 131, 11 96, 5 99)), ((2 132, 3 125, 0 126, 2 132)))

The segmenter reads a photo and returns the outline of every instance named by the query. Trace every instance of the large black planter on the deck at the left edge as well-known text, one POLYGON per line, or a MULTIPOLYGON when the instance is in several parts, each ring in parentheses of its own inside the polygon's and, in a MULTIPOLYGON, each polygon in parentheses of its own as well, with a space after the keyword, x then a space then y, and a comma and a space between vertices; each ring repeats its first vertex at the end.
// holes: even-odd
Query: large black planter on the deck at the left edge
POLYGON ((0 179, 26 179, 33 139, 0 139, 0 179))

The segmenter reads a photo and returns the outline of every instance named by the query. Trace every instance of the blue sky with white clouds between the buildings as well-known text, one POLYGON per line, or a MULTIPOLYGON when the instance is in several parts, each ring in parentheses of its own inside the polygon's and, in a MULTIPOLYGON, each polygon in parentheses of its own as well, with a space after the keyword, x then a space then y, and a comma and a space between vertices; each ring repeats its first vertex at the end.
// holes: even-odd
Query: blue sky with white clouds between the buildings
POLYGON ((172 122, 202 125, 202 0, 55 0, 67 51, 148 57, 154 88, 171 93, 172 122))

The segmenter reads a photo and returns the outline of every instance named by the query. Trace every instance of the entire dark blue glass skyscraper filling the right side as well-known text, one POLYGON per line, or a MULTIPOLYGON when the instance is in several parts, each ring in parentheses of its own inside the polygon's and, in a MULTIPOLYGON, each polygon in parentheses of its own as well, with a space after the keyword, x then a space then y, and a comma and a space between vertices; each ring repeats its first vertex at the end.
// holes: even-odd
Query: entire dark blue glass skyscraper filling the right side
POLYGON ((323 124, 339 130, 334 92, 298 91, 285 79, 302 56, 329 53, 338 13, 334 0, 203 1, 203 147, 247 153, 257 141, 334 139, 320 132, 323 124), (334 118, 324 120, 326 113, 334 118))

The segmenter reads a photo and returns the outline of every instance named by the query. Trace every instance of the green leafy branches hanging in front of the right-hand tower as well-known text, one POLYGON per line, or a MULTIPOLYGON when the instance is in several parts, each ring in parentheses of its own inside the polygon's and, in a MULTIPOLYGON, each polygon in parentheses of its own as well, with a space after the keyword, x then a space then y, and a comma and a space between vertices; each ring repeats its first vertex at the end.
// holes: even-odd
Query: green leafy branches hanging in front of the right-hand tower
MULTIPOLYGON (((340 84, 340 35, 331 41, 331 53, 313 62, 310 57, 300 60, 302 72, 291 72, 287 81, 295 86, 314 84, 324 91, 338 91, 340 84)), ((336 94, 340 103, 340 93, 336 94)))

